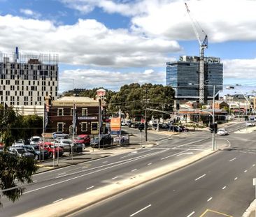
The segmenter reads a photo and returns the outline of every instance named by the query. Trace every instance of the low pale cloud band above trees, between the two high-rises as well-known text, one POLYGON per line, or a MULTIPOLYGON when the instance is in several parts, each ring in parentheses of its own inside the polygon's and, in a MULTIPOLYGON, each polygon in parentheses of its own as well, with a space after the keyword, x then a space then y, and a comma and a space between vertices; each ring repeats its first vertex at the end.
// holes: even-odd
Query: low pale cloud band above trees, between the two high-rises
POLYGON ((118 91, 122 85, 130 83, 165 84, 165 71, 156 72, 147 69, 141 72, 122 73, 120 71, 94 69, 64 70, 59 76, 59 92, 73 88, 92 89, 94 87, 118 91))

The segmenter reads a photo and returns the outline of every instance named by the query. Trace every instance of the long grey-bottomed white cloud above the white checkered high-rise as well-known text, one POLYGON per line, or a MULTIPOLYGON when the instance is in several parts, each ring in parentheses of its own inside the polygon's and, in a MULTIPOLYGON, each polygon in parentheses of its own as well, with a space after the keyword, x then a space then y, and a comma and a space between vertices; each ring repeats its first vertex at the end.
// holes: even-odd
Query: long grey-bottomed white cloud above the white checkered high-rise
POLYGON ((146 38, 126 29, 107 29, 96 20, 55 26, 48 20, 0 16, 2 52, 54 52, 62 63, 87 66, 164 66, 168 52, 180 52, 173 40, 146 38), (12 43, 10 43, 10 41, 12 43))

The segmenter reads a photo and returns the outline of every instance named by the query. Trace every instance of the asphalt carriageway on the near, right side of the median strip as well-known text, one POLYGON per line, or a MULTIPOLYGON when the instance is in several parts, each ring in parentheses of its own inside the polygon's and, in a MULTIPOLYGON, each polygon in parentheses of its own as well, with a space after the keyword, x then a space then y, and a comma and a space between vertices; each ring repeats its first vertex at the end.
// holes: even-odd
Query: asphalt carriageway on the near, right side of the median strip
POLYGON ((234 149, 218 151, 73 216, 241 217, 255 198, 255 139, 255 133, 230 133, 225 140, 234 149))

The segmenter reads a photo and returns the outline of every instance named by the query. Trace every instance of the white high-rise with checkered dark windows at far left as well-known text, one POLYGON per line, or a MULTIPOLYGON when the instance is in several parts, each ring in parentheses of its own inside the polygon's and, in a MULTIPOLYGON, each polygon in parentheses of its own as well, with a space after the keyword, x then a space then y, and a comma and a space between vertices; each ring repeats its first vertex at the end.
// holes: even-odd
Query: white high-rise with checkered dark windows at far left
POLYGON ((0 53, 0 103, 40 106, 45 96, 57 99, 57 54, 0 53))

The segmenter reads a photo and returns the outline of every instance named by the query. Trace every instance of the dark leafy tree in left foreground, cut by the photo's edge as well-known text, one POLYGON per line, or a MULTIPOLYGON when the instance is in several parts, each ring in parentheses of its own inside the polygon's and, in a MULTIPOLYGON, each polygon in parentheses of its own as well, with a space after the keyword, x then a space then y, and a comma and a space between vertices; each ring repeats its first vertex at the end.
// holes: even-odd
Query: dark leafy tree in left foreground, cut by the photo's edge
MULTIPOLYGON (((0 105, 0 134, 3 142, 3 151, 0 153, 0 197, 5 195, 9 200, 15 202, 25 188, 17 186, 17 182, 31 183, 31 175, 38 167, 33 159, 13 156, 8 153, 7 148, 17 139, 24 136, 23 119, 12 107, 0 105), (9 189, 10 188, 10 189, 9 189)), ((2 206, 0 202, 0 206, 2 206)))

